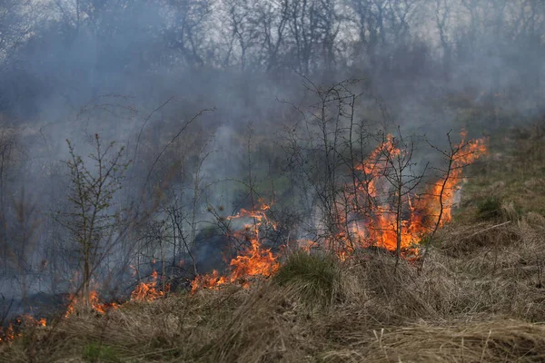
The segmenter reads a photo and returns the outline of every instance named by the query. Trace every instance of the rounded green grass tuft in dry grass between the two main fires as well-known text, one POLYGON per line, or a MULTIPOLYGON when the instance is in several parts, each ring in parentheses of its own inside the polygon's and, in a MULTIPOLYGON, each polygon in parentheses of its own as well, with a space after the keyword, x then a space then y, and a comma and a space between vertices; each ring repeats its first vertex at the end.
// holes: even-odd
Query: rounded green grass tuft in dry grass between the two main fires
POLYGON ((299 251, 290 256, 273 281, 295 289, 307 305, 326 306, 340 292, 339 261, 332 255, 299 251))

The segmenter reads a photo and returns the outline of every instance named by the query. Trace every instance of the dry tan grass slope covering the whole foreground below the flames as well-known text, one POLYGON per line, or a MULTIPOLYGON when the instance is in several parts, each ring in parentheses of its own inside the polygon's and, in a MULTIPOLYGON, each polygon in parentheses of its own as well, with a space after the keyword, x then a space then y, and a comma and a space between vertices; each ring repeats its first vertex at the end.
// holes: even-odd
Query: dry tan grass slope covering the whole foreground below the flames
MULTIPOLYGON (((490 188, 476 183, 466 199, 490 188)), ((26 328, 0 345, 0 361, 540 362, 545 217, 513 197, 501 191, 485 219, 465 201, 420 272, 380 249, 343 262, 295 253, 251 289, 226 284, 26 328)))

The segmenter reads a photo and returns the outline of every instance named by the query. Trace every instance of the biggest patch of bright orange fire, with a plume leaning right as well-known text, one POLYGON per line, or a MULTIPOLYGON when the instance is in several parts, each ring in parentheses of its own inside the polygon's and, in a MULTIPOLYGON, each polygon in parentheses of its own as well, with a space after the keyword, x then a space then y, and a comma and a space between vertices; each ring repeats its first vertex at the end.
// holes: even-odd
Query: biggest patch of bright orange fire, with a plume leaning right
MULTIPOLYGON (((386 250, 397 250, 398 238, 401 250, 411 249, 422 236, 438 224, 451 221, 454 193, 461 182, 462 167, 475 162, 487 152, 484 140, 465 142, 466 132, 461 132, 461 142, 453 145, 455 152, 451 160, 450 173, 426 188, 422 195, 401 195, 401 215, 392 208, 392 186, 388 182, 389 160, 404 155, 388 135, 371 155, 356 170, 367 176, 352 197, 365 205, 367 211, 363 222, 352 223, 352 235, 362 247, 378 246, 386 250)), ((394 193, 396 198, 400 198, 394 193)), ((343 259, 347 250, 338 252, 343 259), (342 254, 342 255, 341 255, 342 254)), ((418 253, 417 250, 413 252, 418 253)))

